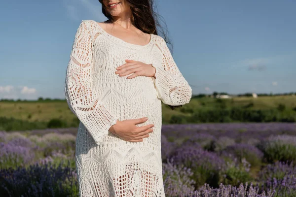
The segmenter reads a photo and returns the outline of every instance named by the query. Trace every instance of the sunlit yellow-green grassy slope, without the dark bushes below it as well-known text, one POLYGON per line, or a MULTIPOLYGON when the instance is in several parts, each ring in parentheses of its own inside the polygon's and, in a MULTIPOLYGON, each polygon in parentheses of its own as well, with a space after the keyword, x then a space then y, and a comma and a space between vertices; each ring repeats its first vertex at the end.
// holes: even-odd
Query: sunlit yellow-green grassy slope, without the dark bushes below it
MULTIPOLYGON (((172 117, 190 118, 197 111, 216 111, 239 108, 241 110, 278 110, 279 113, 295 117, 296 97, 295 96, 264 96, 259 98, 233 97, 231 99, 215 98, 194 98, 190 103, 171 110, 167 105, 162 104, 163 123, 174 123, 172 117)), ((20 124, 38 124, 38 129, 45 129, 51 120, 59 120, 60 127, 76 127, 79 123, 76 116, 69 109, 66 100, 46 101, 1 101, 0 117, 2 124, 9 121, 22 121, 20 124), (13 118, 11 120, 7 120, 13 118), (41 126, 43 125, 43 126, 41 126)), ((176 119, 176 118, 175 118, 176 119)), ((294 120, 294 119, 293 119, 294 120)), ((178 123, 178 121, 175 121, 178 123)), ((179 121, 182 122, 182 121, 179 121)), ((212 121, 213 122, 213 121, 212 121)), ((218 122, 218 121, 217 121, 218 122)), ((281 122, 281 121, 280 121, 281 122)), ((292 121, 293 122, 293 121, 292 121)), ((186 120, 184 123, 190 123, 186 120)), ((33 126, 34 127, 34 126, 33 126)), ((1 125, 0 125, 1 129, 1 125)), ((37 128, 36 128, 37 129, 37 128)))

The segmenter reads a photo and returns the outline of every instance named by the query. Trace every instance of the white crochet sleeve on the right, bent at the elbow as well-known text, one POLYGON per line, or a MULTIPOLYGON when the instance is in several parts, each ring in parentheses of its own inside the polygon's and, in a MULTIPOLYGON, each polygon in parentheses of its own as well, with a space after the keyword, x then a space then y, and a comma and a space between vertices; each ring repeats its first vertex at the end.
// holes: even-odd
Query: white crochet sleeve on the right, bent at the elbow
POLYGON ((178 106, 189 103, 192 97, 192 89, 183 77, 178 66, 176 65, 172 54, 165 42, 160 37, 160 49, 162 52, 162 62, 155 67, 155 77, 152 77, 157 97, 163 103, 178 106))

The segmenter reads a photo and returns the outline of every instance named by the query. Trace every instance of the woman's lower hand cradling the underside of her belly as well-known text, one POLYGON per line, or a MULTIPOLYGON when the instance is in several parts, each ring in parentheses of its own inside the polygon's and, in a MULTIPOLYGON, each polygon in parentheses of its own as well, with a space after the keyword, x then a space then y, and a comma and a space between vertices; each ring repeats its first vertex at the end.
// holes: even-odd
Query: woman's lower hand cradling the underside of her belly
POLYGON ((144 123, 148 120, 145 118, 130 119, 124 121, 116 121, 115 125, 112 125, 109 129, 110 132, 119 136, 121 139, 130 142, 140 142, 143 141, 144 137, 148 137, 151 129, 154 127, 153 124, 146 125, 143 127, 137 127, 136 124, 144 123))

